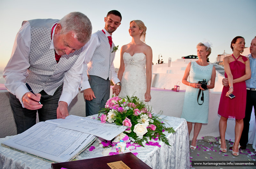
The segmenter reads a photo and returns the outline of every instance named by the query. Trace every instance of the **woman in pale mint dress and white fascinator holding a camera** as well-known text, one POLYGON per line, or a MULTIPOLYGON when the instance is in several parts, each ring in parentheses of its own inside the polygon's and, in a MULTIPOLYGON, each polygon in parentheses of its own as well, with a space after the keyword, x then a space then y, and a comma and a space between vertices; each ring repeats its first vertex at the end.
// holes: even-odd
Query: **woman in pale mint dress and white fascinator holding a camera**
POLYGON ((215 67, 206 61, 211 54, 211 43, 209 41, 204 41, 198 43, 196 48, 198 60, 188 63, 182 79, 182 83, 188 85, 188 87, 185 93, 181 118, 184 118, 187 121, 189 135, 192 130, 192 123, 195 123, 194 137, 190 145, 190 149, 192 150, 196 149, 196 138, 200 132, 202 123, 208 123, 209 90, 207 89, 214 88, 216 76, 215 67), (205 87, 204 85, 201 86, 201 84, 198 84, 198 82, 203 81, 203 79, 205 79, 207 83, 205 87), (208 83, 209 81, 211 81, 210 84, 208 83), (201 93, 198 97, 200 89, 201 93), (204 96, 202 93, 204 93, 204 96), (204 98, 203 100, 201 99, 202 96, 204 98))

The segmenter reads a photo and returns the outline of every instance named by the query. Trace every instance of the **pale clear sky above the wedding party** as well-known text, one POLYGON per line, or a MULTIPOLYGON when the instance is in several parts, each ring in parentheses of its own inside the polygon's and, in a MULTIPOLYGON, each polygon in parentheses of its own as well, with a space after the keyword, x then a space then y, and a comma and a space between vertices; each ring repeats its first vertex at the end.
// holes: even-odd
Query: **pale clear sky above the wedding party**
MULTIPOLYGON (((131 20, 140 19, 147 26, 146 44, 153 50, 154 64, 161 54, 164 62, 171 57, 196 55, 196 45, 203 39, 213 44, 210 62, 224 50, 231 54, 231 40, 245 38, 249 47, 256 36, 256 0, 1 0, 0 1, 0 73, 7 64, 16 33, 23 20, 36 18, 61 19, 73 11, 87 15, 92 32, 101 30, 108 11, 122 14, 121 25, 113 33, 115 45, 131 41, 128 33, 131 20), (112 3, 109 3, 112 2, 112 3)), ((119 68, 120 51, 114 65, 119 68)))

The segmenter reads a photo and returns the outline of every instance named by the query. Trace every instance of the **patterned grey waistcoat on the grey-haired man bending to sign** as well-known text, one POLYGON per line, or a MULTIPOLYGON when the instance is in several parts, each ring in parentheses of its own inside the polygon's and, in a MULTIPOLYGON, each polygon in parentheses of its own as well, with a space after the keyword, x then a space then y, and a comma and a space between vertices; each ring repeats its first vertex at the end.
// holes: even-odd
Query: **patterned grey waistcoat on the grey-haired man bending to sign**
MULTIPOLYGON (((53 95, 63 84, 64 74, 76 62, 81 49, 69 55, 63 55, 59 63, 55 60, 55 51, 50 49, 52 26, 57 19, 29 20, 31 26, 31 46, 29 53, 28 77, 26 82, 35 93, 44 90, 53 95)), ((24 23, 24 22, 23 22, 24 23)))

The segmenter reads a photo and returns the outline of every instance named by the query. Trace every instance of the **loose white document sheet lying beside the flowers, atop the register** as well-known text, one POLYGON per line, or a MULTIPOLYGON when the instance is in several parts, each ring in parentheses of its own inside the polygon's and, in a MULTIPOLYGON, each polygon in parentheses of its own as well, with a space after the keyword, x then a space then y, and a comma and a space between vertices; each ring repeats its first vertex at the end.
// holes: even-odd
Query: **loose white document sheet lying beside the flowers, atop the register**
POLYGON ((99 120, 90 119, 86 117, 79 117, 75 115, 69 115, 68 117, 66 117, 66 119, 67 121, 69 121, 69 123, 66 123, 67 121, 65 121, 65 119, 55 119, 51 121, 61 123, 60 125, 58 125, 58 127, 81 131, 84 133, 104 138, 106 140, 112 140, 117 135, 122 133, 125 129, 127 129, 126 126, 100 123, 99 120))

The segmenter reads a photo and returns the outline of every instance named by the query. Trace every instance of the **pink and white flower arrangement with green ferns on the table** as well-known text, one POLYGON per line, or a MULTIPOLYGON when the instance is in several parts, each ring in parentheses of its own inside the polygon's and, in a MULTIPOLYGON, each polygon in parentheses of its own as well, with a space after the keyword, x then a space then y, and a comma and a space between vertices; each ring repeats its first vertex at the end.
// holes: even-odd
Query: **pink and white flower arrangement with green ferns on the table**
POLYGON ((101 123, 115 123, 127 126, 124 133, 132 138, 134 143, 141 146, 143 141, 158 138, 167 145, 168 139, 164 131, 174 133, 172 127, 165 127, 164 121, 159 114, 151 114, 151 107, 146 106, 136 96, 120 98, 113 96, 108 99, 105 108, 102 108, 98 117, 101 123))

